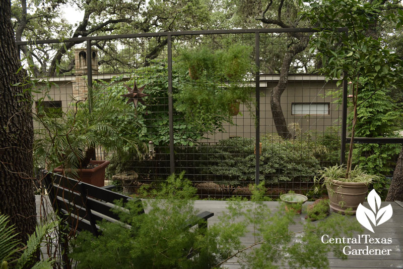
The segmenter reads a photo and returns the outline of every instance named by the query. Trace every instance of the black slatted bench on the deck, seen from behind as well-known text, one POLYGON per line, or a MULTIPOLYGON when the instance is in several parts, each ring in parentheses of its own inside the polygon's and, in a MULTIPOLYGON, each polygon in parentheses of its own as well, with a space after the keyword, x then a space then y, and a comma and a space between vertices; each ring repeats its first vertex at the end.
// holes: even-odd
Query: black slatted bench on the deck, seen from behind
MULTIPOLYGON (((70 232, 89 231, 98 236, 100 228, 97 222, 106 220, 119 222, 119 217, 111 209, 116 208, 115 201, 121 200, 123 206, 132 197, 111 191, 113 185, 97 187, 91 184, 80 182, 75 179, 63 177, 58 174, 43 172, 44 183, 49 195, 53 210, 58 214, 62 222, 70 227, 70 232)), ((138 204, 139 213, 144 213, 143 203, 135 199, 138 204)), ((214 216, 214 213, 204 211, 197 214, 191 220, 184 223, 184 228, 196 226, 207 228, 207 220, 214 216)), ((61 240, 63 242, 66 240, 61 240)), ((65 243, 61 244, 64 253, 67 252, 65 243)), ((63 255, 63 260, 68 259, 63 255)))

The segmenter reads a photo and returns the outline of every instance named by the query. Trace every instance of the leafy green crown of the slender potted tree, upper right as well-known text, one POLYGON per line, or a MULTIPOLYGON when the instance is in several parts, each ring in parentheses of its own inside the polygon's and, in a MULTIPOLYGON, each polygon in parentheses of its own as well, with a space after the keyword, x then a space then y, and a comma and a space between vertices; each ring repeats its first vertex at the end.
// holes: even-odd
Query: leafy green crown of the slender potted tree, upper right
POLYGON ((372 93, 389 85, 393 87, 399 78, 400 61, 381 39, 366 36, 372 22, 384 19, 380 10, 386 5, 382 1, 356 0, 310 4, 305 16, 318 28, 326 29, 311 40, 310 51, 317 50, 326 75, 340 79, 346 72, 345 79, 353 85, 358 82, 360 89, 372 93), (348 27, 349 34, 338 31, 340 27, 348 27))

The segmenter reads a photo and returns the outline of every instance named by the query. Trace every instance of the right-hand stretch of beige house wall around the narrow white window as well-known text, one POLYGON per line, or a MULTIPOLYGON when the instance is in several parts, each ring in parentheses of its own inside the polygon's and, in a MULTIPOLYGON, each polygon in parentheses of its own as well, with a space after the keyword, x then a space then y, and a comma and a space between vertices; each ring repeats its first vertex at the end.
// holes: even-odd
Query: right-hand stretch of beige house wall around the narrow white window
MULTIPOLYGON (((262 77, 263 79, 266 78, 265 76, 262 77)), ((273 79, 276 79, 276 77, 273 79)), ((338 104, 332 103, 336 98, 321 97, 321 95, 324 96, 329 91, 335 92, 338 90, 336 81, 326 83, 321 76, 307 76, 305 79, 302 79, 302 76, 298 76, 291 79, 281 96, 281 106, 288 125, 298 124, 302 132, 324 132, 329 126, 341 124, 341 120, 338 120, 342 116, 341 106, 339 107, 338 104), (292 115, 292 103, 323 102, 329 103, 329 115, 292 115)), ((277 133, 270 105, 271 91, 276 84, 277 81, 262 81, 260 83, 260 137, 268 133, 277 133)), ((254 106, 252 106, 252 110, 254 113, 254 106)), ((251 117, 247 106, 244 104, 240 105, 240 112, 242 115, 233 117, 235 125, 224 125, 224 129, 227 132, 216 132, 209 135, 204 142, 217 142, 229 137, 255 137, 255 119, 251 117)))

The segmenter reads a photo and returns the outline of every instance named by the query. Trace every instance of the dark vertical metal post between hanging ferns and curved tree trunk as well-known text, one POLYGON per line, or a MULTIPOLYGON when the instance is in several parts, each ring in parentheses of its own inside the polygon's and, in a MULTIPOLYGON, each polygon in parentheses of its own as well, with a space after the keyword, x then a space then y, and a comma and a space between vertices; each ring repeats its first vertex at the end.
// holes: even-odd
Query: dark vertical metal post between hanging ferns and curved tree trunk
POLYGON ((256 129, 256 153, 255 153, 255 183, 259 184, 259 162, 260 162, 260 35, 258 32, 255 33, 255 64, 256 64, 256 119, 255 119, 255 129, 256 129))

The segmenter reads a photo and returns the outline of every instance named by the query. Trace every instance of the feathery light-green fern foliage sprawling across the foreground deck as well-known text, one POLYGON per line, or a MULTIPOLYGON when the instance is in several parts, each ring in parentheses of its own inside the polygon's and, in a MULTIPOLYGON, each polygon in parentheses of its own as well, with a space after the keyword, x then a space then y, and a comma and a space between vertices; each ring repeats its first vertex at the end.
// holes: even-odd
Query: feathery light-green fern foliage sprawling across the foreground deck
POLYGON ((247 268, 277 268, 278 264, 323 268, 328 266, 328 252, 347 256, 343 244, 323 244, 321 236, 351 237, 359 229, 355 218, 333 214, 316 226, 307 223, 301 231, 291 232, 294 214, 268 208, 262 202, 265 189, 260 184, 252 188, 251 202, 229 201, 227 212, 208 230, 188 230, 183 224, 196 212, 194 192, 183 174, 169 177, 161 192, 154 193, 156 199, 145 200, 147 213, 137 214, 134 203, 127 210, 116 209, 122 224, 101 223, 102 234, 97 238, 80 233, 72 257, 79 261, 79 268, 217 268, 231 258, 245 261, 247 268), (245 246, 240 238, 250 228, 254 241, 245 246))

